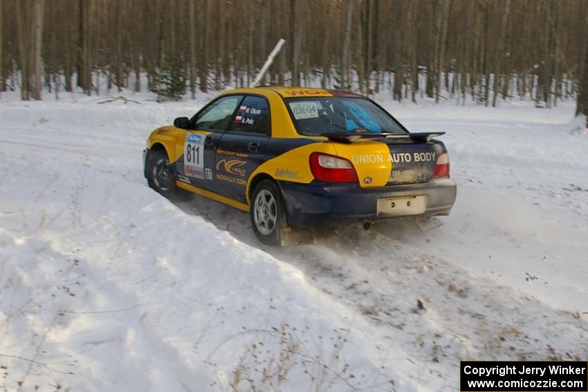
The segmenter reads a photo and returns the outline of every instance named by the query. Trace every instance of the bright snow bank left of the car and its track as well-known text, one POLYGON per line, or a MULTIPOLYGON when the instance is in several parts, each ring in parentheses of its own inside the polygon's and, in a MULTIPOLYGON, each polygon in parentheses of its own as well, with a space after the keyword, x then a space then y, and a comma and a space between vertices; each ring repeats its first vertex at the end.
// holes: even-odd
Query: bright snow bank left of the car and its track
POLYGON ((296 362, 307 357, 286 390, 315 383, 311 375, 338 389, 351 371, 387 382, 353 309, 147 187, 140 151, 164 108, 1 107, 6 385, 225 390, 240 362, 261 380, 251 355, 261 371, 286 338, 296 362))

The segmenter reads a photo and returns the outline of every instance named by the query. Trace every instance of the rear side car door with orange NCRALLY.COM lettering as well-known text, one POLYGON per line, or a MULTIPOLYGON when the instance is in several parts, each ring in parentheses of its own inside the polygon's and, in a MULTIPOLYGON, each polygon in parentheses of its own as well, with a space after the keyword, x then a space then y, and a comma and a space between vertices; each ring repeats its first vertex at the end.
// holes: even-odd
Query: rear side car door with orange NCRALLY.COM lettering
POLYGON ((247 180, 267 160, 264 150, 270 135, 268 100, 246 95, 217 144, 214 192, 246 203, 247 180))

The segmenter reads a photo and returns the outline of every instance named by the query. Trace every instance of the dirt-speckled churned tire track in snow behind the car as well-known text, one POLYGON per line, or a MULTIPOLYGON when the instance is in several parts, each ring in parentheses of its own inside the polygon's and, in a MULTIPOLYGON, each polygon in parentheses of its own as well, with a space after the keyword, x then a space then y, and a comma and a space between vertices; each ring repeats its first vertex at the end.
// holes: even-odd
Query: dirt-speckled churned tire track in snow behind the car
POLYGON ((257 243, 248 214, 198 196, 174 203, 220 230, 230 223, 239 241, 301 268, 317 288, 369 321, 374 340, 388 344, 385 353, 399 344, 429 373, 452 374, 456 361, 467 359, 588 355, 585 319, 452 265, 432 254, 424 239, 415 248, 356 226, 329 232, 313 245, 271 248, 257 243), (419 310, 417 299, 425 309, 419 310), (553 339, 560 335, 577 338, 561 344, 553 339))

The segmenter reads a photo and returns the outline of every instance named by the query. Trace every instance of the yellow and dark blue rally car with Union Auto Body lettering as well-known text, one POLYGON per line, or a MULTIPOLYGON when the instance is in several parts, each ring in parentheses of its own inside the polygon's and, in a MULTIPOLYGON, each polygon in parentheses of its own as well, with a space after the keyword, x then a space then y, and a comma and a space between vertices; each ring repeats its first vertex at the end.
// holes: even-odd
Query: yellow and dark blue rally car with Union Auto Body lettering
POLYGON ((242 88, 153 131, 145 177, 164 196, 179 187, 250 212, 259 240, 277 245, 296 229, 448 215, 441 134, 409 133, 354 93, 242 88))

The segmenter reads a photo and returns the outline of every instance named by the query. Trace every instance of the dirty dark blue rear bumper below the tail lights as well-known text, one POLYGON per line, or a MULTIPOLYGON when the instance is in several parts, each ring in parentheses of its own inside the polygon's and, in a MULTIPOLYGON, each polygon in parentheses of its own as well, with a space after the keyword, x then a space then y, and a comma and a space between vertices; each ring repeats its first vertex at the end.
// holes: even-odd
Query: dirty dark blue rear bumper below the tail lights
POLYGON ((286 203, 288 223, 292 227, 324 227, 337 222, 389 219, 378 216, 380 198, 427 196, 426 211, 421 215, 448 215, 457 193, 457 186, 451 178, 376 188, 316 181, 310 184, 278 183, 286 203))

